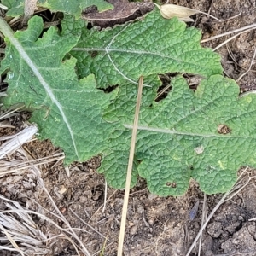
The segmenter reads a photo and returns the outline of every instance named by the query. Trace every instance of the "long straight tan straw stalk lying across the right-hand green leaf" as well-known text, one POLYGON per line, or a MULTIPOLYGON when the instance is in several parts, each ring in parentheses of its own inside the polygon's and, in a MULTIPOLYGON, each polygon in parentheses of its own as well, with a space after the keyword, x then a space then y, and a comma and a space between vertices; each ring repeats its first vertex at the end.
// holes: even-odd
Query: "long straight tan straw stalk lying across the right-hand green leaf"
POLYGON ((137 125, 138 125, 138 118, 140 113, 142 94, 143 94, 143 76, 140 77, 139 83, 138 83, 137 103, 136 103, 135 116, 134 116, 134 122, 133 122, 133 128, 132 128, 131 148, 130 148, 128 167, 127 167, 126 183, 125 183, 125 198, 124 198, 120 233, 119 233, 118 256, 123 255, 123 245, 124 245, 124 239, 125 239, 125 223, 126 223, 127 207, 128 207, 129 193, 130 193, 130 187, 131 187, 131 172, 132 172, 133 158, 135 153, 137 125))

